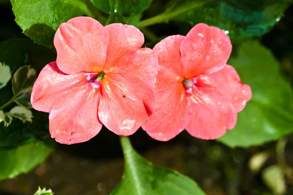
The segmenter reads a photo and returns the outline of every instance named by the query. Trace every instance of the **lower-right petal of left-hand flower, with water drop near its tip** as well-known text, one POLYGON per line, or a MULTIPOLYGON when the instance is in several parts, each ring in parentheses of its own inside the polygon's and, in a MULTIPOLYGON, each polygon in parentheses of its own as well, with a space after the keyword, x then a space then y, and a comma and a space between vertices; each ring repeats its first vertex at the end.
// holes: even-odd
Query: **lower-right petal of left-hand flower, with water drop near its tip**
POLYGON ((154 91, 140 78, 110 74, 101 86, 99 118, 119 136, 136 132, 154 110, 154 91))

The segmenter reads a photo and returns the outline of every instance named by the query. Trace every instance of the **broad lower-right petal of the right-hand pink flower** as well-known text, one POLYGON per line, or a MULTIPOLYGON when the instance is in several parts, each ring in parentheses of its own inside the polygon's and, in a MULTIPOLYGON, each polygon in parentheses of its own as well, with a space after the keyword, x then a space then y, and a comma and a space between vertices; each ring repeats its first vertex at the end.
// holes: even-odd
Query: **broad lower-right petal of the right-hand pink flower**
POLYGON ((191 116, 185 128, 190 135, 215 139, 223 136, 226 129, 234 127, 237 112, 230 103, 230 98, 205 87, 194 87, 191 93, 188 96, 191 116))

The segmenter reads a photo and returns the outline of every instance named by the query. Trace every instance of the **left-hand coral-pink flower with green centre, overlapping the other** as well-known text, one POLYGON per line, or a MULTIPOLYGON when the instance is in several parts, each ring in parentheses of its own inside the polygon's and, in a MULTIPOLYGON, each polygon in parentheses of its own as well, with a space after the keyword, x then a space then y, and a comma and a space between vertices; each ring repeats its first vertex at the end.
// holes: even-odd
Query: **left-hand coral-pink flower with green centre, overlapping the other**
POLYGON ((58 28, 57 60, 36 80, 31 102, 49 112, 51 137, 73 144, 96 136, 103 124, 117 135, 133 134, 155 106, 152 86, 158 59, 141 48, 134 26, 77 17, 58 28))

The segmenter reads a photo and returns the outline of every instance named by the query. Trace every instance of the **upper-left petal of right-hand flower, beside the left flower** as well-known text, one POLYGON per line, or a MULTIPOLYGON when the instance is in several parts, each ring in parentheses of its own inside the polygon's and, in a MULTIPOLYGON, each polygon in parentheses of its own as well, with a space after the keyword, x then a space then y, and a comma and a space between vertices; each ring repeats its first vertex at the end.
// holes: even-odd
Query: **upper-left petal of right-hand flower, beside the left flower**
POLYGON ((169 87, 171 84, 181 82, 182 64, 180 54, 180 44, 184 36, 169 36, 157 43, 153 51, 159 60, 159 70, 155 90, 169 87))

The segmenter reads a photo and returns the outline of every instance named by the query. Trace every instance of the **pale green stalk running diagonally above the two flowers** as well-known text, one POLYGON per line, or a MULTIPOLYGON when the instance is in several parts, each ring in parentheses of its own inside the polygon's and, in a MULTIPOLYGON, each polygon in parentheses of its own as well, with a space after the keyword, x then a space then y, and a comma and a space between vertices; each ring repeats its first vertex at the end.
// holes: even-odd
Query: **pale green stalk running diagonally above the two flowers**
POLYGON ((146 26, 150 26, 150 25, 153 25, 153 24, 156 24, 156 23, 161 23, 161 22, 164 22, 166 20, 169 20, 169 19, 172 19, 184 12, 188 12, 192 9, 195 9, 195 8, 198 8, 200 6, 203 6, 204 4, 206 3, 209 3, 213 0, 206 0, 205 2, 195 2, 195 3, 191 3, 190 6, 188 7, 184 7, 182 9, 178 9, 178 10, 174 10, 172 12, 164 12, 162 14, 159 14, 157 16, 154 16, 152 18, 149 18, 149 19, 146 19, 146 20, 142 20, 138 27, 139 28, 144 28, 146 26))

